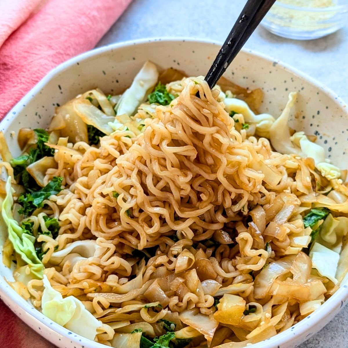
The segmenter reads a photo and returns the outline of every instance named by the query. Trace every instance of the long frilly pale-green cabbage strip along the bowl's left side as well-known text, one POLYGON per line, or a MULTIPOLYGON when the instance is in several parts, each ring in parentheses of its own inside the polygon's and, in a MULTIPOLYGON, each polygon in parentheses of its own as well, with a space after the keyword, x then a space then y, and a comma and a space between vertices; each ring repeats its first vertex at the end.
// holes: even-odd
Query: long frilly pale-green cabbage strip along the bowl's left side
POLYGON ((11 211, 13 205, 13 191, 11 187, 11 177, 9 176, 6 183, 6 198, 3 200, 1 207, 2 217, 8 230, 8 237, 16 253, 28 264, 33 278, 41 279, 44 274, 44 265, 35 252, 35 237, 26 234, 13 218, 11 211))

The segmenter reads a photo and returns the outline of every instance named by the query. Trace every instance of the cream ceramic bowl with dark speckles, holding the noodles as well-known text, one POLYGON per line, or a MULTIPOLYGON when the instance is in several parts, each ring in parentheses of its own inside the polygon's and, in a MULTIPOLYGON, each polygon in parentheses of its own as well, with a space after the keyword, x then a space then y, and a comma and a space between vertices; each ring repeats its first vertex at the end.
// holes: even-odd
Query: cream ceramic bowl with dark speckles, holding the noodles
MULTIPOLYGON (((36 85, 3 119, 5 133, 14 156, 20 154, 16 135, 22 127, 46 127, 56 106, 88 89, 99 87, 106 93, 120 93, 128 87, 146 60, 159 68, 173 67, 190 76, 205 75, 221 44, 192 39, 146 39, 102 47, 59 65, 36 85)), ((342 168, 348 167, 348 112, 338 96, 319 82, 266 56, 242 51, 225 76, 250 89, 264 92, 261 112, 278 117, 288 93, 299 92, 291 127, 317 135, 327 157, 342 168)), ((7 236, 0 226, 0 245, 7 236)), ((0 260, 2 259, 0 251, 0 260)), ((13 265, 15 266, 15 265, 13 265)), ((52 322, 22 299, 6 282, 12 271, 0 264, 0 296, 14 313, 32 329, 60 348, 102 348, 99 343, 76 335, 52 322)), ((290 329, 252 348, 293 348, 327 324, 348 298, 348 277, 339 290, 314 313, 290 329)), ((121 348, 121 347, 120 347, 121 348)), ((123 348, 123 347, 122 347, 123 348)), ((126 348, 126 347, 125 347, 126 348)))

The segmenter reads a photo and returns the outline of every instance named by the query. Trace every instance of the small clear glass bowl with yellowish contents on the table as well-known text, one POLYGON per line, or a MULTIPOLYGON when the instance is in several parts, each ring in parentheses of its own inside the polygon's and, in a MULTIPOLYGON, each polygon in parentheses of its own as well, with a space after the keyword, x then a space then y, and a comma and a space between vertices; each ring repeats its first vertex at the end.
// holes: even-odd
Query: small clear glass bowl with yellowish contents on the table
POLYGON ((320 8, 285 5, 276 1, 261 25, 284 38, 311 40, 341 29, 347 18, 348 0, 336 0, 335 6, 320 8))

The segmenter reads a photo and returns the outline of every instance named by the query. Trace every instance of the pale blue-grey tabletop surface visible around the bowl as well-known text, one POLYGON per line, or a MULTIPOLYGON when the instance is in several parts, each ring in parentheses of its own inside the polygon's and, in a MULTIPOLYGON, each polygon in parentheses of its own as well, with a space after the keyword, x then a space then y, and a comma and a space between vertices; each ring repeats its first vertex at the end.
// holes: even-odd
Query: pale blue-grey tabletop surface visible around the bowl
MULTIPOLYGON (((224 41, 244 3, 244 0, 134 0, 98 46, 146 37, 181 36, 224 41)), ((347 27, 313 41, 283 39, 258 28, 246 47, 295 66, 348 100, 347 27)), ((299 347, 347 348, 347 326, 348 307, 345 307, 314 338, 299 347)))

